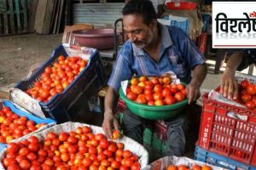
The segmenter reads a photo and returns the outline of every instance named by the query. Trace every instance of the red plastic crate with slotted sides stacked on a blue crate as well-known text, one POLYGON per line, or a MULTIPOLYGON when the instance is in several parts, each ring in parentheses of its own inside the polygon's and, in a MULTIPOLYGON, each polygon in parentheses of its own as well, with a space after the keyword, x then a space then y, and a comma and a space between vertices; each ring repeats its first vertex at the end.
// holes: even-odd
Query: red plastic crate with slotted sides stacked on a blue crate
POLYGON ((256 111, 208 99, 208 94, 202 99, 199 146, 256 166, 256 111))

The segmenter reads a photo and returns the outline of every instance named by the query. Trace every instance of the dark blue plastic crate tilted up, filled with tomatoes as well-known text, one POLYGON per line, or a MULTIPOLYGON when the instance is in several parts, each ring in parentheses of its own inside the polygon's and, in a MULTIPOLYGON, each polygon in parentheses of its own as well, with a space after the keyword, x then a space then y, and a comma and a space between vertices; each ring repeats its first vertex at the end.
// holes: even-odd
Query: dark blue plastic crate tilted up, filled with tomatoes
MULTIPOLYGON (((49 60, 46 61, 38 71, 32 74, 32 77, 18 83, 15 88, 19 88, 23 91, 31 88, 33 83, 40 79, 40 75, 44 72, 45 67, 53 65, 60 55, 67 57, 67 52, 62 45, 55 48, 49 60)), ((79 73, 64 91, 60 94, 56 94, 46 103, 39 102, 44 111, 44 115, 51 117, 58 123, 72 121, 72 115, 77 114, 77 111, 80 109, 76 108, 74 110, 73 106, 78 107, 78 102, 85 102, 90 99, 90 96, 102 88, 106 80, 100 54, 97 50, 94 50, 84 70, 79 73)), ((80 105, 79 107, 83 106, 84 105, 80 105)))

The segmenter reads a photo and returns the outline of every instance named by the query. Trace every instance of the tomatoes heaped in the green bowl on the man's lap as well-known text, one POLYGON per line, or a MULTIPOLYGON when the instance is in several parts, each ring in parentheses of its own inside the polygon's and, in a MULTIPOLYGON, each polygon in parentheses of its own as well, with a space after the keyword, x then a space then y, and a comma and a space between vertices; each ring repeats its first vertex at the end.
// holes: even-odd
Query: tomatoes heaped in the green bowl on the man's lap
POLYGON ((133 77, 126 97, 143 105, 172 105, 186 98, 183 84, 171 84, 171 77, 133 77))

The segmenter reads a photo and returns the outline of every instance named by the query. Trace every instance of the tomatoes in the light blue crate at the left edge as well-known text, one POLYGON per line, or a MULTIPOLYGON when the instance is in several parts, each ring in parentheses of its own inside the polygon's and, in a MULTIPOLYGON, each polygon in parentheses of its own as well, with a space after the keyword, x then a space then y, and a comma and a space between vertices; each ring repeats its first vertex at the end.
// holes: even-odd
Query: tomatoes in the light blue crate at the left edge
POLYGON ((18 116, 9 107, 4 106, 0 111, 0 143, 9 143, 44 125, 45 123, 36 124, 26 116, 18 116))

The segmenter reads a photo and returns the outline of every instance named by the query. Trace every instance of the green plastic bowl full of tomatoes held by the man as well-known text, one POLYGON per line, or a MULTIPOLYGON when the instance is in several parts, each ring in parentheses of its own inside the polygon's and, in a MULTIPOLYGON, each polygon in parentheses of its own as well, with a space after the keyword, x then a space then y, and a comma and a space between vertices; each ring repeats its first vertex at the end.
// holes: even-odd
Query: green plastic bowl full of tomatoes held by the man
POLYGON ((128 99, 122 88, 119 88, 119 95, 121 99, 125 101, 126 106, 132 113, 150 120, 164 120, 177 116, 177 114, 188 105, 189 101, 189 99, 183 99, 183 101, 172 105, 142 105, 128 99))

